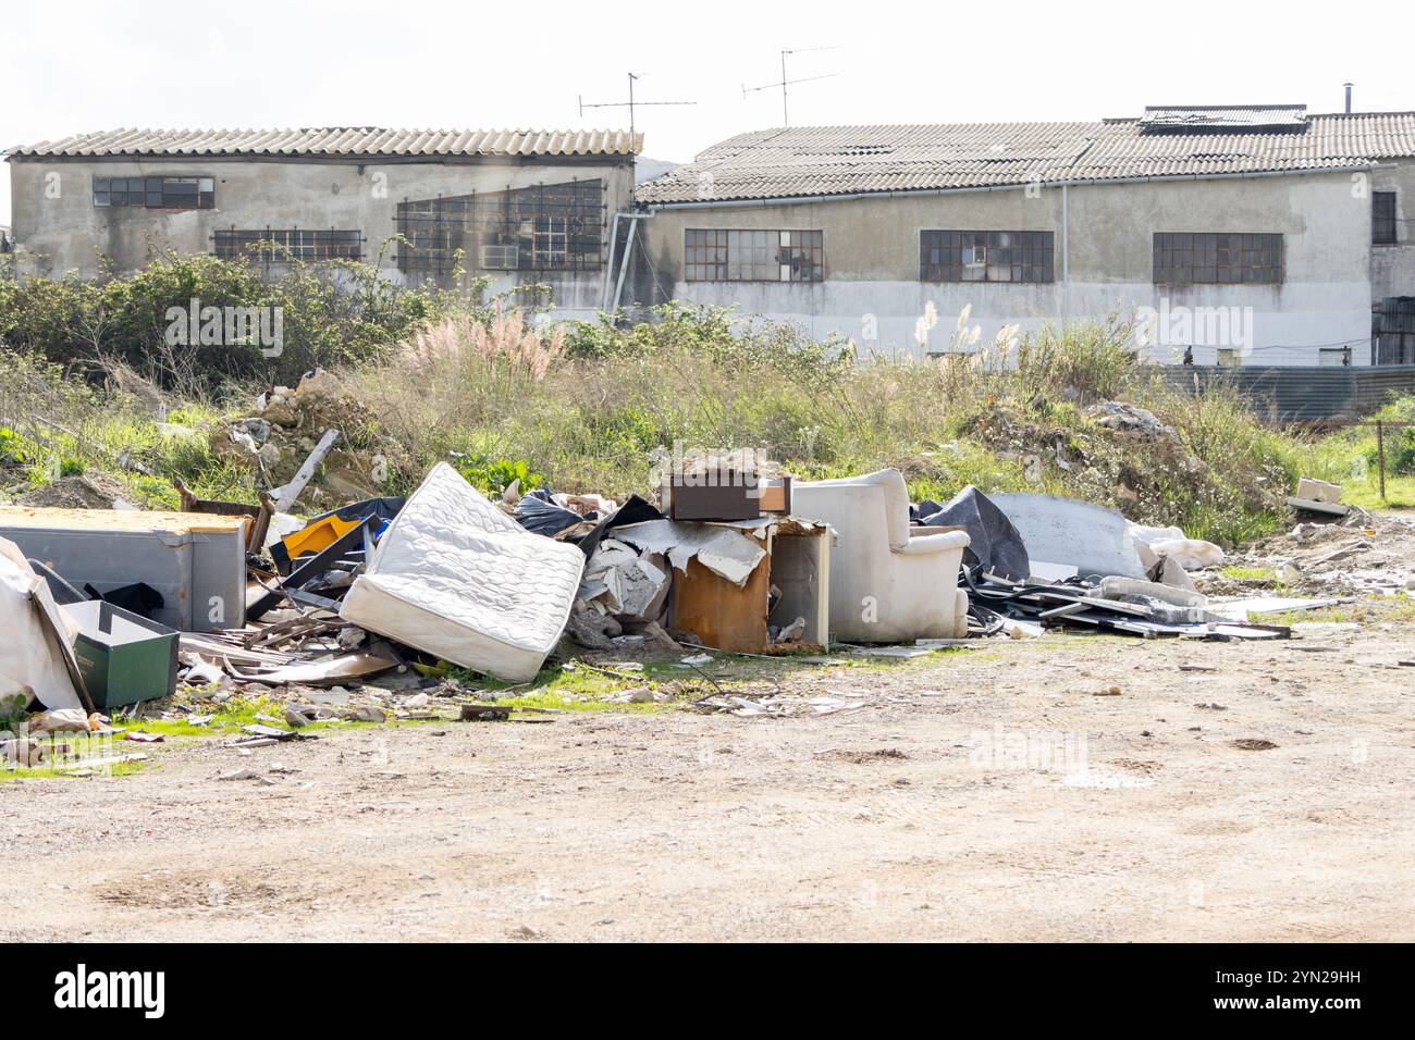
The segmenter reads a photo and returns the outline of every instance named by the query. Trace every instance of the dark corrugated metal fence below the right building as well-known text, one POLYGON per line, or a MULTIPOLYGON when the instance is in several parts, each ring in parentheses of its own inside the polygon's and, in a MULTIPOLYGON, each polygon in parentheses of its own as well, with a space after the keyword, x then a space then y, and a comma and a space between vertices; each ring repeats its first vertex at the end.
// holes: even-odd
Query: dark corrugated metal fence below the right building
POLYGON ((1232 386, 1266 423, 1363 419, 1392 396, 1415 395, 1415 365, 1283 366, 1166 365, 1174 389, 1232 386))

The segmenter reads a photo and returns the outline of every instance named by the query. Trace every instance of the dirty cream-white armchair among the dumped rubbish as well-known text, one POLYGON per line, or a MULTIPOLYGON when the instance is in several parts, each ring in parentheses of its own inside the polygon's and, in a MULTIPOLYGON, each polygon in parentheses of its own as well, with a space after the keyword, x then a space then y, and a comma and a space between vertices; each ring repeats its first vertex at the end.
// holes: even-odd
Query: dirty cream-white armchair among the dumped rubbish
POLYGON ((910 528, 899 470, 797 484, 791 512, 825 521, 831 552, 831 638, 848 642, 968 635, 968 593, 958 587, 968 535, 910 528))

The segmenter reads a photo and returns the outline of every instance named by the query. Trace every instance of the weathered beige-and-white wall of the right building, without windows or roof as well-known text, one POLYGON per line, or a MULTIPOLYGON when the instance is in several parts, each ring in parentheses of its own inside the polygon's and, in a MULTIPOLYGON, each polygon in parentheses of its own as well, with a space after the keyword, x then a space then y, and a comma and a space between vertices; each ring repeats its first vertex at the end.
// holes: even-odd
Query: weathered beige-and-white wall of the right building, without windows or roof
MULTIPOLYGON (((1105 318, 1152 307, 1172 335, 1150 357, 1179 359, 1196 344, 1200 364, 1232 347, 1244 364, 1316 364, 1320 345, 1354 342, 1365 364, 1371 331, 1370 200, 1351 174, 1303 174, 1208 181, 1150 181, 1040 191, 968 191, 787 205, 664 207, 644 224, 649 286, 708 304, 736 304, 744 316, 788 320, 812 337, 839 334, 862 348, 918 354, 914 327, 932 301, 940 321, 928 348, 948 349, 964 306, 988 342, 1003 324, 1034 330, 1061 316, 1105 318), (1064 197, 1064 201, 1063 201, 1064 197), (1063 235, 1063 208, 1067 233, 1063 235), (683 280, 686 228, 821 229, 821 283, 683 280), (923 229, 1051 231, 1056 280, 921 283, 923 229), (1285 277, 1274 286, 1156 286, 1153 233, 1166 231, 1281 232, 1285 277), (1186 308, 1238 308, 1232 313, 1186 308), (1227 325, 1224 334, 1220 325, 1227 325), (1208 342, 1218 340, 1218 342, 1208 342)), ((635 286, 640 287, 638 284, 635 286)), ((662 294, 662 290, 658 290, 662 294)))

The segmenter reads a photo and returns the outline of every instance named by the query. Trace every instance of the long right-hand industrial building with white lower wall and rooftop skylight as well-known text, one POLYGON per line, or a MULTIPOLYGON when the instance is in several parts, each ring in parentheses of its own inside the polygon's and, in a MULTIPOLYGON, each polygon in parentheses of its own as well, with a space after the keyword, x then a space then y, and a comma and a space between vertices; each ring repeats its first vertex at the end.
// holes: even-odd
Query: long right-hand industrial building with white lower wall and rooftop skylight
POLYGON ((1411 112, 758 130, 640 185, 630 294, 865 354, 1139 313, 1157 361, 1409 364, 1412 198, 1411 112))

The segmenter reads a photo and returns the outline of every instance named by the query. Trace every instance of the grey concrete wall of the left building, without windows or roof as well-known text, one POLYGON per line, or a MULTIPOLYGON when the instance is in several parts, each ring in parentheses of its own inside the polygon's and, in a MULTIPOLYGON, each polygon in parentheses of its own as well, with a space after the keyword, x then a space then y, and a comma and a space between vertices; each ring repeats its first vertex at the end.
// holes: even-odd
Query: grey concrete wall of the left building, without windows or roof
MULTIPOLYGON (((361 164, 358 160, 265 161, 249 158, 75 160, 11 158, 14 238, 33 269, 59 276, 76 270, 92 277, 99 255, 113 270, 146 263, 151 248, 209 253, 218 228, 359 229, 365 259, 374 262, 396 231, 398 202, 473 191, 504 191, 570 180, 606 181, 606 255, 613 215, 631 205, 634 167, 627 158, 477 160, 361 164), (158 211, 144 207, 95 207, 93 177, 214 177, 215 208, 158 211)), ((402 280, 396 248, 381 260, 388 277, 402 280)), ((477 258, 468 256, 471 273, 477 258)), ((566 316, 600 306, 604 272, 484 272, 492 291, 518 282, 545 282, 566 316)))

